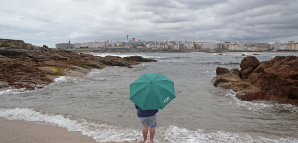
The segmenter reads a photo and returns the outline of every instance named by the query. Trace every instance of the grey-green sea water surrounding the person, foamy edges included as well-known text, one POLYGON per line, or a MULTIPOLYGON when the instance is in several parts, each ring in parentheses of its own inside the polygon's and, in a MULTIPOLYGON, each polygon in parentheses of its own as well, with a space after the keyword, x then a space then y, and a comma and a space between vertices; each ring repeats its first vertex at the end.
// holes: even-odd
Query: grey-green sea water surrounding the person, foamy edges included
MULTIPOLYGON (((129 100, 129 85, 142 74, 163 73, 174 82, 176 98, 157 113, 156 143, 298 142, 297 106, 241 101, 235 92, 211 83, 217 67, 240 69, 243 53, 90 54, 159 61, 92 70, 86 77, 59 77, 33 91, 0 89, 0 117, 43 121, 81 131, 97 142, 140 142, 142 125, 129 100)), ((258 54, 259 61, 298 55, 258 54)))

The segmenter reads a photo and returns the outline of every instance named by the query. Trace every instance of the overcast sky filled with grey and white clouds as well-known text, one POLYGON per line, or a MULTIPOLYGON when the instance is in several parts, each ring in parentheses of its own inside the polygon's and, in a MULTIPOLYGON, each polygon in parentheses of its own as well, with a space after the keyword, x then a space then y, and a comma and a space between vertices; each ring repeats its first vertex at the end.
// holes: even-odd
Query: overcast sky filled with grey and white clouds
POLYGON ((0 0, 0 38, 298 42, 298 0, 0 0))

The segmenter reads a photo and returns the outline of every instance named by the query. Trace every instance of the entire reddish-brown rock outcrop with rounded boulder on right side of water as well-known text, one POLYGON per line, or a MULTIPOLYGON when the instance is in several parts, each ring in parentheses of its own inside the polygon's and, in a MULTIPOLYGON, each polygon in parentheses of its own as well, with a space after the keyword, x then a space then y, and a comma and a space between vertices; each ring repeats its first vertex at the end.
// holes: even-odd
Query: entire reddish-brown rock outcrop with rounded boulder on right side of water
POLYGON ((298 57, 276 56, 259 62, 243 58, 241 70, 230 70, 213 78, 214 86, 232 89, 241 100, 270 100, 298 105, 298 57))

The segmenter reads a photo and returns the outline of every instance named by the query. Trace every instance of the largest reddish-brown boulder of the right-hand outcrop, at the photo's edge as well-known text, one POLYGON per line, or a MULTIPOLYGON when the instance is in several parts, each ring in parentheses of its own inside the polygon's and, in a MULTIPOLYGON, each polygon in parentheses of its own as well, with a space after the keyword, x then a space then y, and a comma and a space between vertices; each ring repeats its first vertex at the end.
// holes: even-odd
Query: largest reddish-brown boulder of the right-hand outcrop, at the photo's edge
POLYGON ((264 69, 264 72, 258 74, 255 84, 263 90, 271 91, 272 95, 298 99, 298 92, 289 92, 298 86, 298 67, 293 67, 298 64, 297 59, 297 56, 277 56, 261 63, 259 67, 264 69))

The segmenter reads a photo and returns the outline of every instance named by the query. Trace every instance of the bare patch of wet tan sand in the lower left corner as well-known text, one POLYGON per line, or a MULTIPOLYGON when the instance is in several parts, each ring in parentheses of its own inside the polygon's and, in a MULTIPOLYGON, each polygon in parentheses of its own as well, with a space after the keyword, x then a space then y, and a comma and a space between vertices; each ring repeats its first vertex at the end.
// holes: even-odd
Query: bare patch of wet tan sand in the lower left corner
MULTIPOLYGON (((79 131, 46 125, 43 122, 6 120, 0 117, 0 142, 5 143, 95 143, 79 131)), ((116 142, 107 142, 116 143, 116 142)), ((128 143, 128 142, 124 142, 128 143)))

